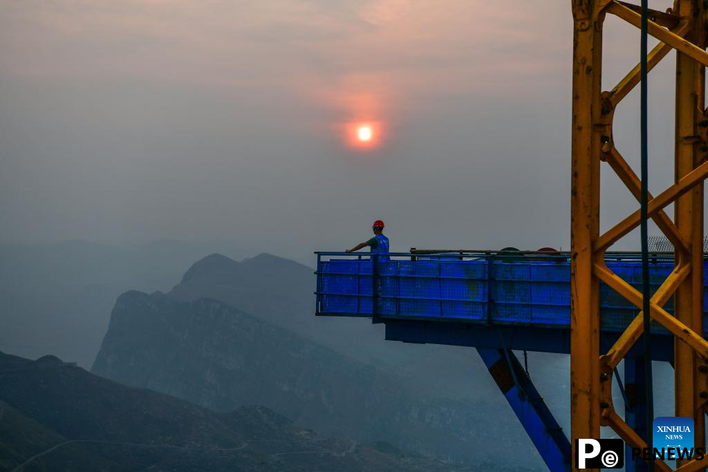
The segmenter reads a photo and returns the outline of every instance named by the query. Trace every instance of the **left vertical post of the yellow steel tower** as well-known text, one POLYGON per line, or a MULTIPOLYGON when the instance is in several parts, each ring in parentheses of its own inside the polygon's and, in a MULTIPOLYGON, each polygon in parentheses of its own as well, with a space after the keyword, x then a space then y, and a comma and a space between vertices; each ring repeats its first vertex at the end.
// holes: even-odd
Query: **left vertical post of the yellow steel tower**
MULTIPOLYGON (((593 1, 573 1, 571 171, 571 449, 576 438, 600 437, 600 292, 593 277, 599 234, 600 72, 604 15, 593 1)), ((595 469, 597 470, 597 469, 595 469)))

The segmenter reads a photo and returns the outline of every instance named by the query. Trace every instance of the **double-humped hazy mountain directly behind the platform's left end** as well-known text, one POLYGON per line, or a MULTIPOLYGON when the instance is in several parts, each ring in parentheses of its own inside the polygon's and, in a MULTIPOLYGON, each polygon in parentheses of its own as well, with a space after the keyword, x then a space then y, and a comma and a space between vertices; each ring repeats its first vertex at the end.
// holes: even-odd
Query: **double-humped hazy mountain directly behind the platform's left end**
POLYGON ((292 260, 261 253, 239 263, 212 254, 194 263, 168 296, 179 301, 224 301, 362 362, 406 372, 418 388, 436 395, 444 384, 451 398, 469 398, 472 393, 475 398, 503 402, 484 364, 469 349, 387 342, 381 324, 361 318, 316 317, 314 288, 314 269, 292 260), (421 363, 428 369, 421 369, 421 363))

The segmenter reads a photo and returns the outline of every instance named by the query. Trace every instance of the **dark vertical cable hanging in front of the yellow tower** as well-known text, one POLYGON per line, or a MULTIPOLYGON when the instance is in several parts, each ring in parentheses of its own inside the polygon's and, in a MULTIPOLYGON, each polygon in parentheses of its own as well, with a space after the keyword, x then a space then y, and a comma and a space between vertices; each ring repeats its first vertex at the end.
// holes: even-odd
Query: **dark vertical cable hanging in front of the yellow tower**
MULTIPOLYGON (((645 416, 645 432, 646 446, 653 459, 653 444, 651 425, 653 424, 653 391, 651 378, 651 318, 649 317, 649 241, 647 238, 647 206, 649 205, 649 163, 647 156, 647 96, 646 87, 646 53, 647 53, 647 30, 649 26, 649 1, 641 0, 641 292, 642 292, 642 311, 644 318, 644 379, 645 379, 645 401, 646 401, 646 416, 645 416)), ((654 461, 649 460, 649 471, 654 471, 654 461)))

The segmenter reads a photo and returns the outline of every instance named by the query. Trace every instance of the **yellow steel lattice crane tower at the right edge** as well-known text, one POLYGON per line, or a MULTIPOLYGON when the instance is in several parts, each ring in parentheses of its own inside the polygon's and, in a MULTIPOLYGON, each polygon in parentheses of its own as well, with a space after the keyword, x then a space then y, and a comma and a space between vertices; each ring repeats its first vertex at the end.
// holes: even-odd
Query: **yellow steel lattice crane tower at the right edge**
MULTIPOLYGON (((599 438, 609 426, 632 447, 646 447, 612 404, 612 372, 643 333, 641 313, 607 352, 600 352, 600 281, 641 308, 643 298, 605 264, 605 251, 639 226, 639 210, 600 234, 600 167, 612 168, 640 198, 641 179, 615 146, 615 108, 641 81, 636 65, 603 91, 603 23, 617 16, 639 28, 641 8, 617 0, 573 0, 573 119, 571 195, 571 447, 575 439, 599 438)), ((651 70, 676 50, 674 183, 649 195, 648 216, 675 248, 675 267, 650 300, 650 316, 674 336, 675 415, 693 418, 695 444, 704 447, 708 402, 708 342, 703 333, 703 180, 708 175, 705 109, 708 2, 675 0, 665 12, 649 10, 647 31, 659 43, 647 55, 651 70), (673 219, 664 211, 673 204, 673 219), (663 306, 674 297, 675 316, 663 306)), ((649 425, 651 427, 651 425, 649 425)), ((651 434, 651 432, 649 432, 651 434)), ((663 461, 657 470, 670 471, 663 461)), ((680 460, 679 471, 700 471, 701 461, 680 460)))

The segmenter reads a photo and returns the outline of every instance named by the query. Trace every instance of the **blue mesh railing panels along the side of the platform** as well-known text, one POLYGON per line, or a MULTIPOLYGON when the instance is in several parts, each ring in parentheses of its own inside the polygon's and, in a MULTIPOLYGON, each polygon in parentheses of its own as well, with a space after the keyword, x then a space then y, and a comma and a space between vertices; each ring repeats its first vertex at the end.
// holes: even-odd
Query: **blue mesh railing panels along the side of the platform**
MULTIPOLYGON (((367 254, 316 254, 319 315, 570 325, 567 255, 396 253, 391 260, 374 263, 367 254)), ((641 260, 637 255, 608 256, 607 266, 641 289, 641 260)), ((671 270, 672 255, 653 255, 649 277, 652 293, 671 270)), ((707 282, 704 271, 704 299, 707 282)), ((664 308, 673 313, 673 299, 664 308)), ((624 330, 638 313, 636 306, 600 284, 603 330, 624 330)), ((663 330, 659 326, 655 329, 663 330)))

